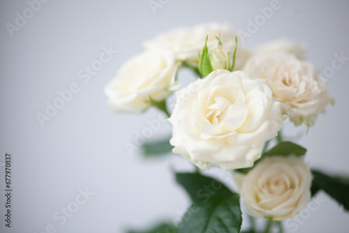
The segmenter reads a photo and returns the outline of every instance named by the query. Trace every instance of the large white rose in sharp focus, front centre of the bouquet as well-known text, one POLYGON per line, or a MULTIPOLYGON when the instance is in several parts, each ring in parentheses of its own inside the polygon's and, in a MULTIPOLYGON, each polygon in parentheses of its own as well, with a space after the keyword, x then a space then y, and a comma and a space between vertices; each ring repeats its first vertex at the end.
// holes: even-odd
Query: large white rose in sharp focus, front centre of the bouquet
POLYGON ((172 151, 202 170, 209 163, 223 170, 252 167, 263 142, 282 127, 272 91, 242 71, 214 70, 176 94, 172 151))

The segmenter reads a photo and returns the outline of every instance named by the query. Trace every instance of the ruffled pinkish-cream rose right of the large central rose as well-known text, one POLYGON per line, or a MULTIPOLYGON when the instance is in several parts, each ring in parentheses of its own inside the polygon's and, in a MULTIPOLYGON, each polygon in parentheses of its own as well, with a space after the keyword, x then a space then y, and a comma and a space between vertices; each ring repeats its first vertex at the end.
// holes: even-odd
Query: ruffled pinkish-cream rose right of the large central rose
POLYGON ((267 82, 274 98, 296 126, 313 126, 320 112, 334 103, 327 93, 327 81, 312 63, 301 61, 292 54, 255 55, 248 59, 243 70, 267 82))

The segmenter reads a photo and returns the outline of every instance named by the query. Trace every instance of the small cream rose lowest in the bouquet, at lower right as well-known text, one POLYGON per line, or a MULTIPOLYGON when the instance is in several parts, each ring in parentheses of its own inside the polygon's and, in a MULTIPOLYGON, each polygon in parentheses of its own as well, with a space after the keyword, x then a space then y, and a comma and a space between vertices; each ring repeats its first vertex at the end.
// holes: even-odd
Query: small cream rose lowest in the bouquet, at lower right
POLYGON ((263 158, 246 175, 233 177, 246 211, 255 218, 295 218, 311 197, 311 171, 298 156, 263 158))

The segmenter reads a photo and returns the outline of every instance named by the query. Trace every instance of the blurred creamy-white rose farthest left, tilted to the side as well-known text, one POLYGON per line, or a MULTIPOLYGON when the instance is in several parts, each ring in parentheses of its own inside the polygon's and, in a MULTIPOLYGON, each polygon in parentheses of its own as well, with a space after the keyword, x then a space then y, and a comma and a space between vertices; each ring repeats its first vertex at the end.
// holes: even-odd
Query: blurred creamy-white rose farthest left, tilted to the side
POLYGON ((105 87, 107 105, 121 112, 142 112, 150 106, 149 98, 161 101, 179 88, 178 68, 170 51, 151 50, 133 57, 105 87))

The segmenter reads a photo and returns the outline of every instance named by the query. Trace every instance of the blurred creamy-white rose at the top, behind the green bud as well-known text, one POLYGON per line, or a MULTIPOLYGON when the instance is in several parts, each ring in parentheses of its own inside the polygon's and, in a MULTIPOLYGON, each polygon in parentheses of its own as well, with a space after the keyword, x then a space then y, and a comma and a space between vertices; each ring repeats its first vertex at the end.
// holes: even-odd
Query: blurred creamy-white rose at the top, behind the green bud
MULTIPOLYGON (((200 24, 196 27, 172 29, 166 33, 159 34, 156 38, 144 43, 147 50, 172 50, 179 61, 186 61, 190 66, 197 67, 199 63, 199 52, 205 45, 206 37, 207 47, 211 48, 218 44, 216 36, 221 36, 221 42, 225 52, 230 54, 235 50, 235 32, 229 24, 200 24)), ((237 54, 235 61, 235 70, 239 70, 244 62, 250 56, 250 52, 237 45, 237 54)), ((230 61, 231 62, 231 61, 230 61)))

